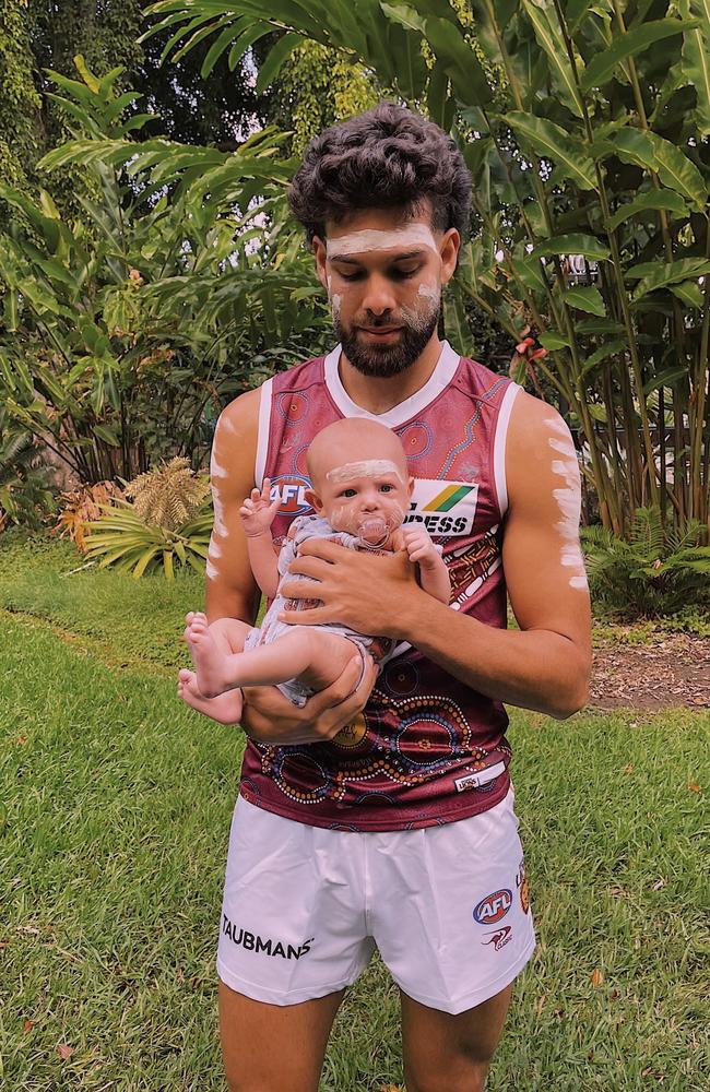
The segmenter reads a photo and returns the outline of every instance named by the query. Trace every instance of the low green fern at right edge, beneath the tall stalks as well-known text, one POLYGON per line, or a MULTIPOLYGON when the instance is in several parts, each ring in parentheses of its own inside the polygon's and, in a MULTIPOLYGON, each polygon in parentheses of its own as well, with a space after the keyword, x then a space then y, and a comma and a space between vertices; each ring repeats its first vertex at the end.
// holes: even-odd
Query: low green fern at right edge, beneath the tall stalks
POLYGON ((702 534, 697 520, 665 531, 653 506, 636 510, 628 542, 602 526, 582 527, 592 596, 634 618, 710 607, 710 546, 702 534))

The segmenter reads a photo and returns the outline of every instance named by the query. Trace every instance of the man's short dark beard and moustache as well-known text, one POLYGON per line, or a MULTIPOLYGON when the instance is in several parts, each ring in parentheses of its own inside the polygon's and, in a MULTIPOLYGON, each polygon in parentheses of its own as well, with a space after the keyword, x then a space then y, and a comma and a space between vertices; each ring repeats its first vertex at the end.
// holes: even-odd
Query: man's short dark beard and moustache
POLYGON ((391 318, 368 320, 367 324, 371 330, 377 330, 378 327, 400 325, 400 339, 394 345, 363 344, 355 328, 346 330, 338 313, 333 314, 333 325, 343 353, 360 375, 376 379, 391 379, 392 376, 399 376, 411 368, 424 352, 438 325, 440 309, 441 299, 438 296, 430 301, 426 310, 417 312, 403 308, 402 317, 397 323, 393 323, 391 318))

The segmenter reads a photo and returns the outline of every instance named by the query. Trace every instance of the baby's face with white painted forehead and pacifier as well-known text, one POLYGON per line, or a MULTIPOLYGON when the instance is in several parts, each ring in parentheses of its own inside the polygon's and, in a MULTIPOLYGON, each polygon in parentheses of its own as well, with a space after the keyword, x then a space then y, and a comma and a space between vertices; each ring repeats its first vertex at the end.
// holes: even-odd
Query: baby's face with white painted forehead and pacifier
MULTIPOLYGON (((390 459, 362 459, 334 466, 318 489, 322 514, 334 531, 384 544, 410 508, 411 478, 390 459)), ((318 487, 317 487, 318 488, 318 487)))

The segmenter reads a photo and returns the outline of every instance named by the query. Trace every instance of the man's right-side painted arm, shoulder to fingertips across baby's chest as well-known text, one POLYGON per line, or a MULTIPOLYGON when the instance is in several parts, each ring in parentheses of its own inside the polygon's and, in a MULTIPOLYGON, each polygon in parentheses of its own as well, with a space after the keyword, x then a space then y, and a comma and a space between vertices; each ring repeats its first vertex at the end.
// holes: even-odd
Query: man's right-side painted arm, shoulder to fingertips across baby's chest
POLYGON ((521 393, 508 429, 509 510, 502 561, 520 630, 486 626, 421 589, 403 555, 339 556, 305 543, 287 584, 323 606, 284 614, 299 625, 339 620, 360 632, 409 641, 449 674, 496 701, 560 720, 587 700, 591 666, 589 592, 579 548, 579 470, 569 430, 546 403, 521 393), (310 555, 310 556, 309 556, 310 555), (379 563, 378 563, 379 562, 379 563))

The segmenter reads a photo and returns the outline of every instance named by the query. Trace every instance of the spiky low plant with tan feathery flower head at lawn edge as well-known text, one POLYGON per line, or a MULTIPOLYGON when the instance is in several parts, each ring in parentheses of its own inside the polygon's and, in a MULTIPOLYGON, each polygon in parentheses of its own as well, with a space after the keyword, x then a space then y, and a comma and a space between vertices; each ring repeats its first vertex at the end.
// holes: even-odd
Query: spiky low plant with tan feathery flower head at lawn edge
POLYGON ((213 512, 209 480, 190 470, 187 459, 171 459, 126 484, 131 503, 115 498, 87 527, 86 557, 99 568, 115 565, 139 580, 163 569, 173 580, 177 565, 204 575, 213 512))

